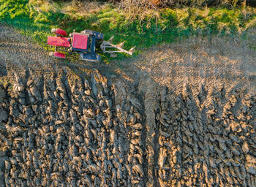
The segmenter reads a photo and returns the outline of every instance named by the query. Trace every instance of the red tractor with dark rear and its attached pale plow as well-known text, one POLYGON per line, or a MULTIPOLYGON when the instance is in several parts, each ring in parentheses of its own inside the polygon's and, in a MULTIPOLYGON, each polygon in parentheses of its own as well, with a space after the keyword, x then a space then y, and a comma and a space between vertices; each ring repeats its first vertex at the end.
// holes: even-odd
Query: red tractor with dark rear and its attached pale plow
POLYGON ((102 53, 110 53, 114 56, 114 53, 127 53, 132 56, 135 47, 132 47, 129 51, 124 50, 122 46, 124 42, 119 45, 113 45, 110 38, 109 41, 104 41, 104 34, 97 31, 84 30, 81 33, 72 32, 67 37, 67 32, 60 28, 53 28, 51 30, 56 37, 48 37, 48 45, 55 46, 54 53, 51 52, 50 55, 56 58, 66 58, 64 53, 60 53, 57 50, 65 53, 78 53, 80 58, 84 61, 100 61, 101 56, 96 53, 96 49, 102 50, 102 53), (108 48, 115 48, 116 50, 109 50, 108 48))

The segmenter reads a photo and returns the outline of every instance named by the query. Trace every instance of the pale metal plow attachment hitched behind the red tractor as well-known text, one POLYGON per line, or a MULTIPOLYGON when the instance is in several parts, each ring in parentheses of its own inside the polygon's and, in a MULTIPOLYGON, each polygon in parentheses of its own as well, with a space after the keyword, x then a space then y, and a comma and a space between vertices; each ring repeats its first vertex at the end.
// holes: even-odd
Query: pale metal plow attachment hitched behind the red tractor
POLYGON ((124 45, 124 42, 121 42, 118 45, 113 45, 111 43, 112 39, 113 39, 113 37, 111 37, 109 39, 109 41, 103 41, 102 45, 100 45, 100 48, 102 49, 103 53, 110 53, 110 54, 113 54, 113 53, 127 53, 130 56, 132 56, 132 53, 133 53, 133 50, 135 49, 135 47, 132 47, 129 51, 128 50, 124 50, 122 48, 123 45, 124 45), (108 50, 108 49, 110 49, 110 50, 108 50), (113 49, 115 49, 115 50, 113 50, 113 49))

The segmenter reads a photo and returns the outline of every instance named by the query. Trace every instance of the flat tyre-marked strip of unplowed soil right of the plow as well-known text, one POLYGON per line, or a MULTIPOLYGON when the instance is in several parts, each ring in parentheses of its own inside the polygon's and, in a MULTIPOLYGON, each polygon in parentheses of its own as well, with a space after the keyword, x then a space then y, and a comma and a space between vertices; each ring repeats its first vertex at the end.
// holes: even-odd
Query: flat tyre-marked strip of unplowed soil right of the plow
MULTIPOLYGON (((247 88, 256 93, 256 31, 241 37, 211 39, 190 37, 169 45, 147 50, 134 64, 140 73, 152 77, 160 85, 178 88, 184 84, 247 88)), ((129 63, 131 62, 129 61, 129 63)), ((129 65, 126 66, 129 69, 129 65)))

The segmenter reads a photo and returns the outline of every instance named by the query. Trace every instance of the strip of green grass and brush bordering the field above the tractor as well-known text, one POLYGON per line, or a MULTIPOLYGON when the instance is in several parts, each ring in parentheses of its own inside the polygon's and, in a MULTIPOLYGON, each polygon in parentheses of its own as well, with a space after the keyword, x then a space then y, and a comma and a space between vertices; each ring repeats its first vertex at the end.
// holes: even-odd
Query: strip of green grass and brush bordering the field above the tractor
POLYGON ((144 47, 173 42, 192 34, 235 34, 256 26, 256 9, 252 7, 204 7, 148 9, 144 15, 129 15, 110 3, 0 0, 0 21, 47 46, 51 28, 68 33, 85 28, 100 31, 105 39, 126 41, 126 47, 144 47))

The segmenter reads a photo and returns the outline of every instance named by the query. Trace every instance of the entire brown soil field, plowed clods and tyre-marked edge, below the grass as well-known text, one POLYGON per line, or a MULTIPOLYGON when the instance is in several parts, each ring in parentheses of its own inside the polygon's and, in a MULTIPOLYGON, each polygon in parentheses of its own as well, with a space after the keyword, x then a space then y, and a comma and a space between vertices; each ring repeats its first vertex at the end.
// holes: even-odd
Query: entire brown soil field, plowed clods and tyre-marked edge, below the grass
POLYGON ((256 186, 255 31, 108 65, 0 34, 0 186, 256 186))

